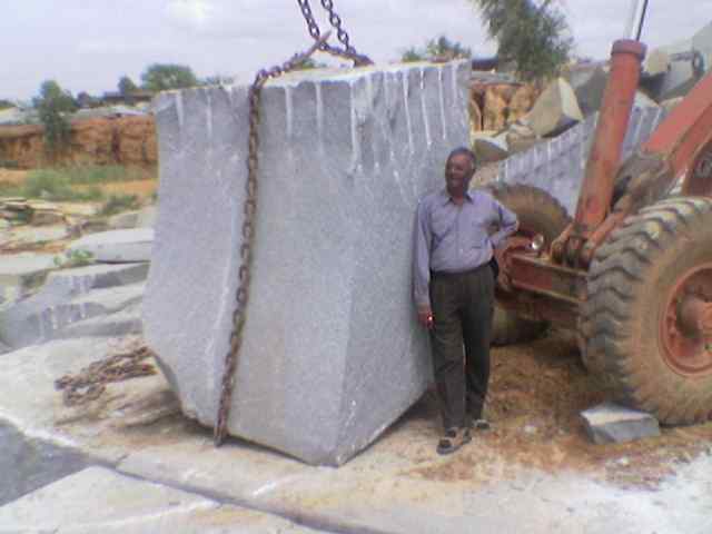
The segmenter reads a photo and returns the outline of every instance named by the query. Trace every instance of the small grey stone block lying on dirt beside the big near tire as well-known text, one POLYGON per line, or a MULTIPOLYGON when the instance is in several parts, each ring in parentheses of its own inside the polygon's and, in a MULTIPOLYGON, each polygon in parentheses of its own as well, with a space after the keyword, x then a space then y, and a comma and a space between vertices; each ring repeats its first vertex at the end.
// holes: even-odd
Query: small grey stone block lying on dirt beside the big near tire
POLYGON ((645 412, 604 403, 581 413, 593 443, 625 443, 660 436, 657 419, 645 412))

